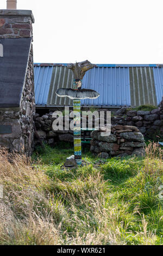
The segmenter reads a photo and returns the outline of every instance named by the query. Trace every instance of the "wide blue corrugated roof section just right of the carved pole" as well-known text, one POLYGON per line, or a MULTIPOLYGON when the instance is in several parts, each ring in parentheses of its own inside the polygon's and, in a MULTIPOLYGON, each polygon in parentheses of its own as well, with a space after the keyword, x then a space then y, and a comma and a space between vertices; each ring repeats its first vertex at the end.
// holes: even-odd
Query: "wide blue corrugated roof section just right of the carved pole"
POLYGON ((130 106, 128 68, 93 68, 83 77, 83 88, 96 90, 100 96, 96 100, 82 100, 82 105, 130 106))

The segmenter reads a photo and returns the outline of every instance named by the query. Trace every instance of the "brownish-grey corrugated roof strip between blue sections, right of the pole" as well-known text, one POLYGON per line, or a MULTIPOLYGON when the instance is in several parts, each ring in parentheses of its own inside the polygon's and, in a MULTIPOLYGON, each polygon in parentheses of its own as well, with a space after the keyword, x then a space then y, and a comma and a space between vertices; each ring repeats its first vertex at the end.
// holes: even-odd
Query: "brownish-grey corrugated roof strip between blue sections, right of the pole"
POLYGON ((131 106, 157 105, 153 70, 151 67, 132 67, 130 71, 131 106))

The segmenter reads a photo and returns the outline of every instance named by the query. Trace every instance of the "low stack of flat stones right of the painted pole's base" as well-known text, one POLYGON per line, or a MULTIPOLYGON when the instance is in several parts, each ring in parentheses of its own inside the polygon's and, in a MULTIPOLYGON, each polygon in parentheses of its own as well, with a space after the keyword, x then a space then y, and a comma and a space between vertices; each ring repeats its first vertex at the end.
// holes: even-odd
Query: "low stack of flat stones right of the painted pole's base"
POLYGON ((90 151, 102 159, 145 155, 144 137, 135 126, 112 125, 110 135, 106 127, 101 127, 92 131, 91 138, 90 151))

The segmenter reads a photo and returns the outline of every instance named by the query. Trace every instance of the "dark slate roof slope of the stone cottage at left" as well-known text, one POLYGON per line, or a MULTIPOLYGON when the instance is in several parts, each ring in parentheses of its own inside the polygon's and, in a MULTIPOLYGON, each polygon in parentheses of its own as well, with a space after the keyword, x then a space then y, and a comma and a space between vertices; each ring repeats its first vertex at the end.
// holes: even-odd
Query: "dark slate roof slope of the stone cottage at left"
POLYGON ((31 38, 0 39, 3 57, 0 57, 0 107, 20 105, 31 38))

